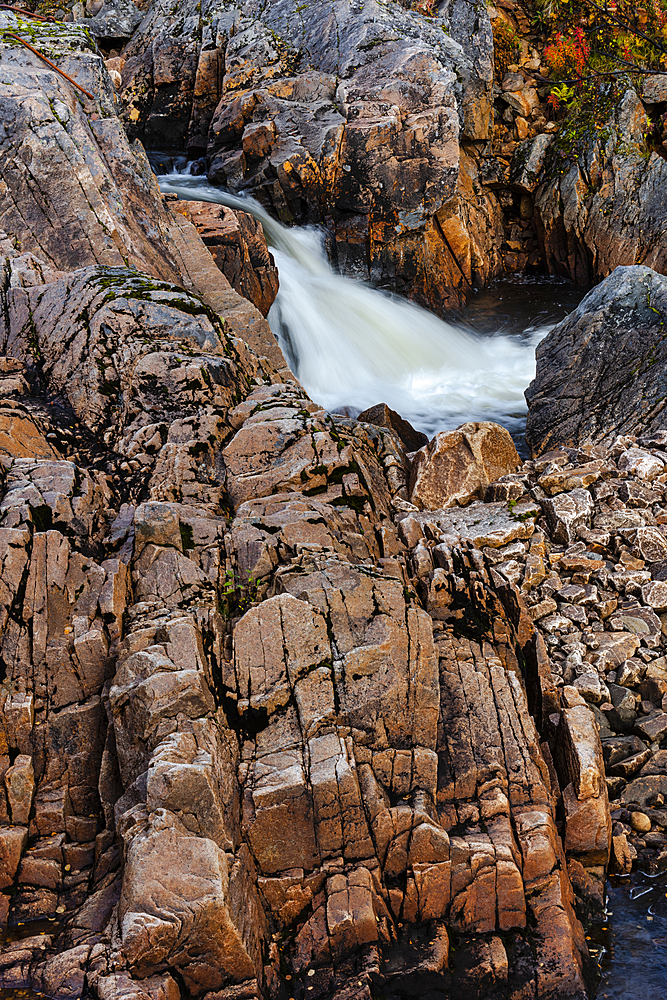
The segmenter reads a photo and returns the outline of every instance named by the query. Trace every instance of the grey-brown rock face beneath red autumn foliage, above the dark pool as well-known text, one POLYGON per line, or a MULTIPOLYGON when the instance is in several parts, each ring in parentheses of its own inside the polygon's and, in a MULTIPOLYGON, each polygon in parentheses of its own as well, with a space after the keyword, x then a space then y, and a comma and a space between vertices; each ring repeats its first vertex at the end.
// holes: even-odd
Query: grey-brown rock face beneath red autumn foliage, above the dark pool
POLYGON ((652 140, 649 118, 662 105, 650 84, 643 101, 633 88, 601 96, 598 108, 566 119, 551 144, 534 195, 551 274, 589 285, 619 265, 667 272, 667 160, 652 140))

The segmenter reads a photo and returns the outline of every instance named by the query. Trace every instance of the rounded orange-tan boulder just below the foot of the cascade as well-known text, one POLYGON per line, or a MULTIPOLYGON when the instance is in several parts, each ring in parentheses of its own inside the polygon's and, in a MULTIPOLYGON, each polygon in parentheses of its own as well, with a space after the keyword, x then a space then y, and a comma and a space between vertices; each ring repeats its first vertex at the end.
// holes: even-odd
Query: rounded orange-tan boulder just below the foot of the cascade
POLYGON ((422 510, 465 507, 519 465, 508 431, 490 421, 441 431, 414 457, 410 501, 422 510))

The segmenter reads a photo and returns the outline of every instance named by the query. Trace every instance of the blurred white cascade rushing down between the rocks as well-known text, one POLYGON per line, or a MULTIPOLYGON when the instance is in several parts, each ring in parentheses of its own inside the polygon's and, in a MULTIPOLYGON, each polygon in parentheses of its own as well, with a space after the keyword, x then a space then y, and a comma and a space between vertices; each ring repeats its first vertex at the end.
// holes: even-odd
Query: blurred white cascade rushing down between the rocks
POLYGON ((262 225, 280 289, 268 316, 302 385, 329 410, 387 403, 432 436, 465 420, 520 433, 535 347, 549 327, 480 337, 397 296, 332 270, 321 231, 288 229, 256 201, 200 178, 160 177, 164 192, 251 213, 262 225))

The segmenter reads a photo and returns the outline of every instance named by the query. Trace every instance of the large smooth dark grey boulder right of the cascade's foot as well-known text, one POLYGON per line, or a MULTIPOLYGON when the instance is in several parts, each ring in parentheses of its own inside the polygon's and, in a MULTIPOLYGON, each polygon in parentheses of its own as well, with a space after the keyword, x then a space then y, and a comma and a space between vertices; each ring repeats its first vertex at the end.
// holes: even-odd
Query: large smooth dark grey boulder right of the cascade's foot
POLYGON ((526 390, 533 454, 665 426, 667 278, 618 267, 545 337, 526 390))

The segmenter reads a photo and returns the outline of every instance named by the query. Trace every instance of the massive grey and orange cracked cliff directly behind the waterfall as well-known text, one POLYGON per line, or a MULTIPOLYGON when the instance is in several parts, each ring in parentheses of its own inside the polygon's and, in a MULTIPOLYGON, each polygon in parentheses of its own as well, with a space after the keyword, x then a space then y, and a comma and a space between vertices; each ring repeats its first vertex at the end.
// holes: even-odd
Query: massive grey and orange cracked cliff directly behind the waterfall
POLYGON ((486 9, 296 0, 156 2, 124 52, 130 134, 187 142, 216 184, 326 222, 350 273, 457 304, 500 269, 502 212, 464 141, 486 140, 486 9))

